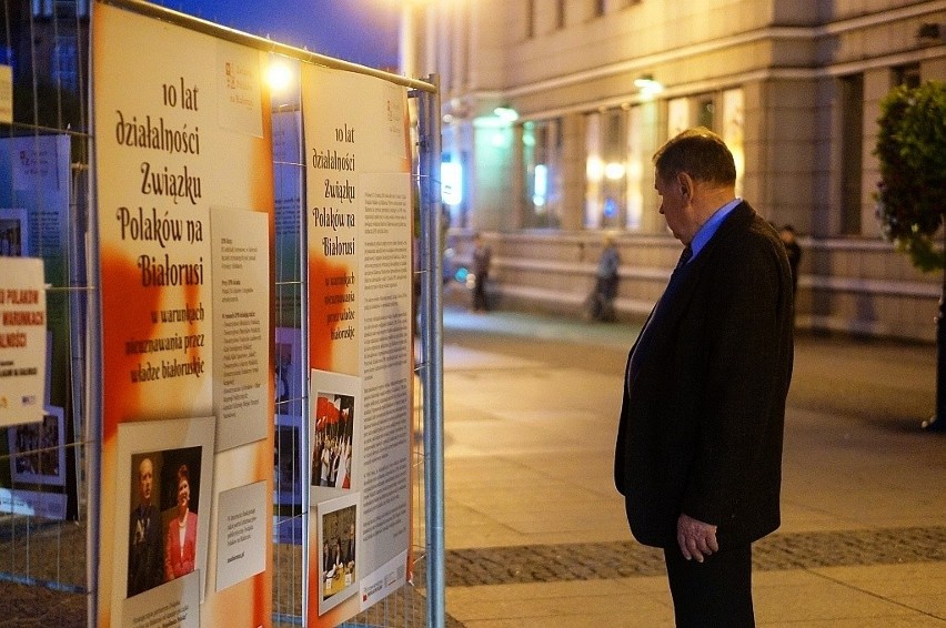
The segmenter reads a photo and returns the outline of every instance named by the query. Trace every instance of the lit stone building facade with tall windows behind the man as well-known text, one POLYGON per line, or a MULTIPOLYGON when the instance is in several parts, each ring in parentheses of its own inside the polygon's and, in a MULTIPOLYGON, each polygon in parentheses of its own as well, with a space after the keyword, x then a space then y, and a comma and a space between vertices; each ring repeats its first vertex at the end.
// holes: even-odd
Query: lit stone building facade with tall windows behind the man
POLYGON ((617 310, 645 315, 680 250, 651 155, 704 125, 801 234, 799 327, 935 337, 943 276, 882 239, 873 150, 890 88, 946 79, 946 1, 427 0, 404 23, 403 69, 441 81, 457 257, 483 232, 504 306, 577 313, 612 233, 617 310))

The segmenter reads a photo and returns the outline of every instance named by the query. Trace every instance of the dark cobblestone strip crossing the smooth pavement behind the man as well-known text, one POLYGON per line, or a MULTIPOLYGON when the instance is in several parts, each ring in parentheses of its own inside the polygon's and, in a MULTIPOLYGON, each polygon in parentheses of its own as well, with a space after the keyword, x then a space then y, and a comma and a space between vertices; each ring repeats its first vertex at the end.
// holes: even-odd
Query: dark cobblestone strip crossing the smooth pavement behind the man
MULTIPOLYGON (((78 537, 81 528, 72 528, 78 537)), ((81 539, 60 540, 69 544, 81 539)), ((6 555, 11 550, 10 543, 8 540, 0 544, 0 554, 6 555)), ((37 547, 37 564, 54 560, 43 556, 43 553, 48 551, 37 547)), ((281 546, 278 551, 298 553, 298 547, 281 546)), ((755 544, 753 558, 755 569, 762 571, 946 561, 946 526, 774 534, 755 544)), ((422 587, 425 578, 423 561, 417 566, 414 581, 422 587)), ((615 579, 664 574, 662 553, 634 541, 453 549, 446 553, 445 566, 449 587, 615 579)), ((301 586, 301 581, 296 581, 288 588, 301 586)), ((85 595, 69 590, 70 588, 73 587, 56 589, 0 581, 0 626, 85 626, 85 595)), ((366 611, 352 619, 349 625, 378 626, 378 616, 383 617, 386 621, 384 625, 391 628, 421 626, 425 617, 425 602, 422 590, 394 595, 384 608, 366 611)), ((301 607, 295 609, 295 612, 301 614, 301 607)), ((296 622, 286 619, 276 625, 292 626, 296 622)), ((446 626, 462 628, 463 624, 447 617, 446 626)))

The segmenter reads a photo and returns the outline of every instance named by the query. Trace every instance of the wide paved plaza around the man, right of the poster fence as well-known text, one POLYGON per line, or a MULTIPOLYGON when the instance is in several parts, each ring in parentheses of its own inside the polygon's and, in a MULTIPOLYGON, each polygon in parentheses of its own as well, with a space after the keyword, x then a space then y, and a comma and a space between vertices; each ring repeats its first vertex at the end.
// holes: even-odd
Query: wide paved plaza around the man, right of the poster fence
MULTIPOLYGON (((447 614, 470 628, 672 626, 613 488, 633 325, 445 315, 447 614), (537 341, 537 342, 536 342, 537 341)), ((799 334, 759 626, 946 625, 935 350, 799 334)))

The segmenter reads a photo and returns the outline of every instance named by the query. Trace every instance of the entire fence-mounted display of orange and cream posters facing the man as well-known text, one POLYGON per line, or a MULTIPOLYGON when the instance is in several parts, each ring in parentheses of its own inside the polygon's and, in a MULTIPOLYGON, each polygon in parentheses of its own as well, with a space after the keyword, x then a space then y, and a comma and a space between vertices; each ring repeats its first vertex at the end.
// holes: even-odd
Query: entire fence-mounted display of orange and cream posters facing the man
POLYGON ((0 544, 43 557, 0 580, 61 626, 442 625, 436 87, 76 7, 89 128, 0 101, 0 544))

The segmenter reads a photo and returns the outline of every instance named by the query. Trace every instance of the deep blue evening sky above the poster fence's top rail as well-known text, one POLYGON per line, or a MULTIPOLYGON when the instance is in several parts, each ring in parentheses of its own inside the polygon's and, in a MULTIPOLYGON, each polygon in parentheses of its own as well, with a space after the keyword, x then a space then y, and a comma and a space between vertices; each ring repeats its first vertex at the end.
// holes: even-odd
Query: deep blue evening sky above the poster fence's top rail
POLYGON ((399 0, 152 0, 280 43, 371 68, 397 65, 399 0))

